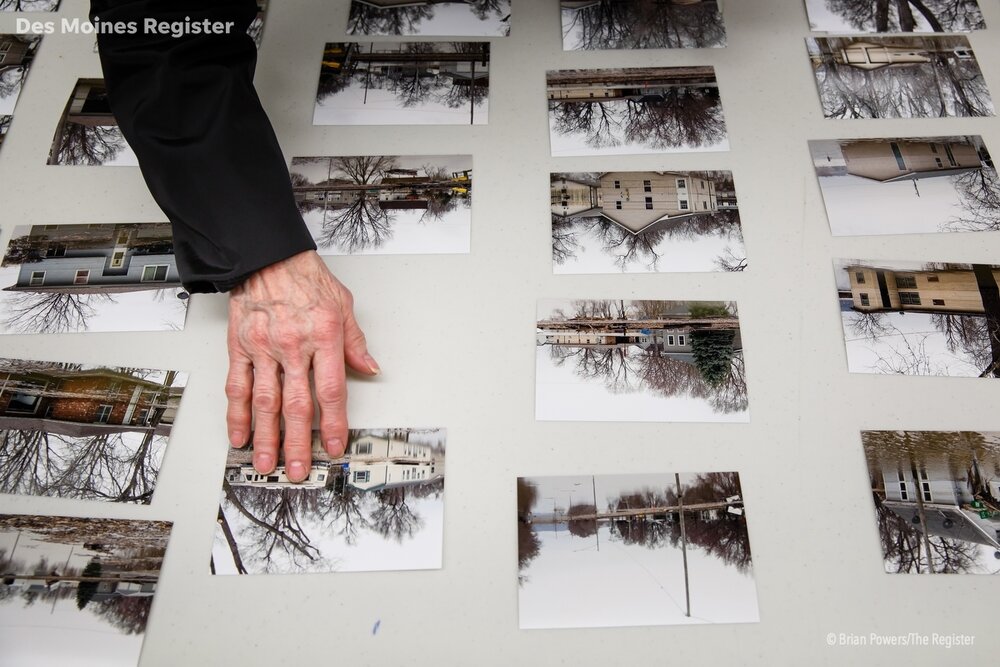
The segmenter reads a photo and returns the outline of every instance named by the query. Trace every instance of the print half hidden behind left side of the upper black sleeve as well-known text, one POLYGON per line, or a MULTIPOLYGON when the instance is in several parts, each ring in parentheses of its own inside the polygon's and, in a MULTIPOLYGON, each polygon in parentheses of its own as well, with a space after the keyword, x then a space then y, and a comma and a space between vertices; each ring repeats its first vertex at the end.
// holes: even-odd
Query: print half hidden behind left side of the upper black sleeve
POLYGON ((111 113, 103 79, 80 79, 56 127, 48 164, 136 167, 135 153, 111 113))

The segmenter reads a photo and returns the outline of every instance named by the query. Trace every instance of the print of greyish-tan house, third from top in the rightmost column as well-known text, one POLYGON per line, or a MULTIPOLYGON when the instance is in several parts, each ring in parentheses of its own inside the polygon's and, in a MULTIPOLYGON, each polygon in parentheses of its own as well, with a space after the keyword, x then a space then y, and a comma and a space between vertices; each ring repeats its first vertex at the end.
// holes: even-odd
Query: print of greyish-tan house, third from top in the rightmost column
POLYGON ((979 136, 810 141, 835 236, 1000 230, 1000 180, 979 136))

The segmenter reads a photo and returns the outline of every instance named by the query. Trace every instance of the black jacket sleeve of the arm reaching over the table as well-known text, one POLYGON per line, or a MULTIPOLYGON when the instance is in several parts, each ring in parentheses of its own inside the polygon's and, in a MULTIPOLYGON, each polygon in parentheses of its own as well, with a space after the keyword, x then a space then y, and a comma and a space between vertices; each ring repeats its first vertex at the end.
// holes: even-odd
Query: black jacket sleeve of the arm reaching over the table
POLYGON ((253 87, 246 29, 254 0, 92 0, 112 111, 174 230, 185 287, 226 291, 316 245, 295 206, 288 169, 253 87), (150 34, 159 21, 232 22, 229 34, 150 34))

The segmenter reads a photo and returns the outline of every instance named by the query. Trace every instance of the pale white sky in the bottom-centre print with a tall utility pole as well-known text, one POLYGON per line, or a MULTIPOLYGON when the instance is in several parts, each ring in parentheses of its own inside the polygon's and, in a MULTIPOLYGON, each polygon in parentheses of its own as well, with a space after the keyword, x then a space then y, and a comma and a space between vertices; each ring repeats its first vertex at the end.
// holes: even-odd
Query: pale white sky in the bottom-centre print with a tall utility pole
POLYGON ((752 623, 759 620, 751 575, 687 550, 691 617, 684 615, 684 564, 680 547, 649 549, 612 541, 606 523, 596 538, 568 532, 537 533, 538 556, 522 571, 520 627, 573 628, 752 623))

